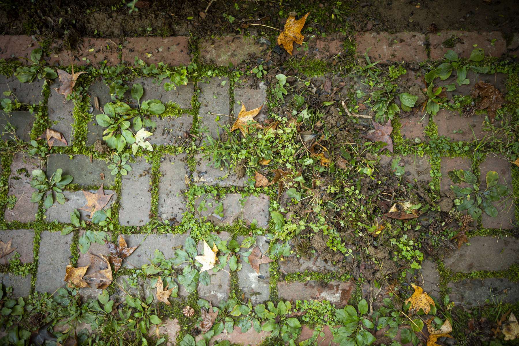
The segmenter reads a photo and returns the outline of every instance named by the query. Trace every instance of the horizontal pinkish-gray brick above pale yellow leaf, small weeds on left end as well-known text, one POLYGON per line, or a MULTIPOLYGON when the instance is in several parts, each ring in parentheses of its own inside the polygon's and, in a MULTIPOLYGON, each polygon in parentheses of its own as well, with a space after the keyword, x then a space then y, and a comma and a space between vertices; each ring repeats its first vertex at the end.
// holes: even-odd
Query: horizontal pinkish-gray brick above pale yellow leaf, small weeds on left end
POLYGON ((227 193, 225 195, 221 200, 224 209, 223 217, 214 214, 214 207, 217 201, 214 201, 212 197, 199 197, 196 204, 198 206, 202 201, 206 202, 207 210, 202 210, 199 215, 207 217, 207 220, 215 225, 232 225, 238 219, 243 219, 245 223, 250 225, 253 219, 256 219, 258 227, 266 228, 269 220, 269 197, 264 193, 260 193, 258 197, 245 197, 243 206, 240 199, 242 199, 240 193, 227 193), (212 205, 209 206, 209 203, 212 205))

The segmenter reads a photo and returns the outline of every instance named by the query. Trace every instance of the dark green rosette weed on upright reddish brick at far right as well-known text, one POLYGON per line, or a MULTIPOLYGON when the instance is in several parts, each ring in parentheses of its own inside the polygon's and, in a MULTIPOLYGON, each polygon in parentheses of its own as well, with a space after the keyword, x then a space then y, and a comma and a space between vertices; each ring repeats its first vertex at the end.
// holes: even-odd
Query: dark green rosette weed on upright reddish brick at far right
POLYGON ((472 187, 450 186, 457 197, 454 203, 458 206, 458 211, 466 210, 474 220, 480 217, 482 209, 489 216, 496 217, 498 212, 492 202, 497 202, 510 195, 510 189, 507 186, 497 183, 499 174, 495 171, 488 171, 484 191, 477 186, 476 176, 472 172, 457 170, 456 176, 460 181, 472 185, 472 187))

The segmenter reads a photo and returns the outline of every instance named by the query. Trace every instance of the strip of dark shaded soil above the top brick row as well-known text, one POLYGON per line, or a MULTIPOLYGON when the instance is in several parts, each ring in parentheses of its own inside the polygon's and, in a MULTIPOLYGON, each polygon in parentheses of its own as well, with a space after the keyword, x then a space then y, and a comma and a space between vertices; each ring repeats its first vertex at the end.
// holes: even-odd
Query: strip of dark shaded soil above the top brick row
POLYGON ((208 1, 140 0, 136 3, 138 11, 129 13, 129 7, 118 0, 35 0, 32 4, 7 0, 0 3, 0 32, 63 38, 72 46, 78 37, 189 33, 204 37, 240 33, 253 23, 282 27, 290 11, 297 11, 298 15, 311 13, 305 27, 307 34, 371 30, 425 33, 446 29, 509 34, 519 30, 519 22, 515 20, 519 5, 515 0, 293 0, 286 4, 214 1, 204 13, 208 4, 208 1))

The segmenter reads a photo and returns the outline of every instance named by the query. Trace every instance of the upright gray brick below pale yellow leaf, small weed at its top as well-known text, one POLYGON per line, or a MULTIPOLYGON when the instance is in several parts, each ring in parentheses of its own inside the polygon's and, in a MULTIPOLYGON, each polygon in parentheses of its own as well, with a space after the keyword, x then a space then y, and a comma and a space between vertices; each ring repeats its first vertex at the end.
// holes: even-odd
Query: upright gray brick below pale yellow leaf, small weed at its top
POLYGON ((142 226, 149 221, 152 206, 149 186, 152 165, 142 157, 130 165, 132 170, 122 176, 119 223, 122 226, 142 226))

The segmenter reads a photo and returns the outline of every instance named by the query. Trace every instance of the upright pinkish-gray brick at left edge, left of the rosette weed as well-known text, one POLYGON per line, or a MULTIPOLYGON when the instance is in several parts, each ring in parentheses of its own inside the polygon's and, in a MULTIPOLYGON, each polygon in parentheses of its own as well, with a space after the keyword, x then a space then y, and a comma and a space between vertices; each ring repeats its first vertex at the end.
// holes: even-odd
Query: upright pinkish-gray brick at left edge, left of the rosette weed
POLYGON ((11 164, 11 175, 9 176, 8 196, 15 195, 16 204, 12 209, 6 207, 4 217, 7 222, 18 220, 19 222, 32 222, 36 220, 38 203, 31 202, 32 171, 39 168, 39 161, 25 156, 23 153, 15 154, 11 164))

